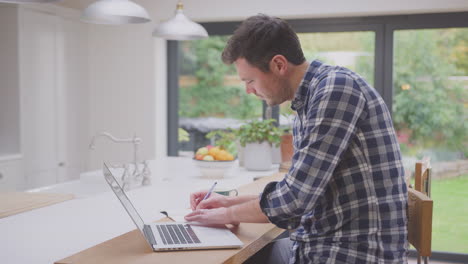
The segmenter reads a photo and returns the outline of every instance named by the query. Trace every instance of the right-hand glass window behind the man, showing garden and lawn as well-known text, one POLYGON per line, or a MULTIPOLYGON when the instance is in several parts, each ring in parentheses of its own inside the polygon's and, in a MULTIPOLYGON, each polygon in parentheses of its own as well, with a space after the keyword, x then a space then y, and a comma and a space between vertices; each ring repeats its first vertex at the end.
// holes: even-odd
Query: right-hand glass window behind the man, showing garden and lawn
POLYGON ((468 252, 468 28, 396 30, 393 121, 407 173, 431 158, 432 248, 468 252))

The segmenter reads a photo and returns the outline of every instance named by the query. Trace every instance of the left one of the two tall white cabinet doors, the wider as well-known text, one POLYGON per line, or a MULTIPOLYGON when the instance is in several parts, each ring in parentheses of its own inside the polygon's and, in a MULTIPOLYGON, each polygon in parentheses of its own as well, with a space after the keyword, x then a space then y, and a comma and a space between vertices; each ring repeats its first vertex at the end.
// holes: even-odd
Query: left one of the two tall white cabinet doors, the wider
POLYGON ((57 17, 20 13, 21 148, 27 185, 57 182, 57 17))

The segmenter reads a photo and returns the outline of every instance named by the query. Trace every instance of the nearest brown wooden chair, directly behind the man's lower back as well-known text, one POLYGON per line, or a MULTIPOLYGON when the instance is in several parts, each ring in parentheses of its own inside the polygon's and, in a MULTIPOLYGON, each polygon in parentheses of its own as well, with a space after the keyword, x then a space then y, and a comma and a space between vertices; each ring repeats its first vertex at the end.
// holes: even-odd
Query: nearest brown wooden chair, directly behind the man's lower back
POLYGON ((427 264, 431 256, 433 201, 422 192, 408 188, 408 242, 427 264))

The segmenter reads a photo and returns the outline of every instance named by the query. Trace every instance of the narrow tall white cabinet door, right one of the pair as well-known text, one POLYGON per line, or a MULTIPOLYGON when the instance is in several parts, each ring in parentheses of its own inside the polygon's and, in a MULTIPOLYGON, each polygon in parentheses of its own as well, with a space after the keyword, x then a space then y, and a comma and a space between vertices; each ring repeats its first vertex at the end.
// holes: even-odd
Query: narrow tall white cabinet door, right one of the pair
POLYGON ((85 25, 60 18, 57 34, 57 180, 78 179, 87 155, 87 38, 85 25))

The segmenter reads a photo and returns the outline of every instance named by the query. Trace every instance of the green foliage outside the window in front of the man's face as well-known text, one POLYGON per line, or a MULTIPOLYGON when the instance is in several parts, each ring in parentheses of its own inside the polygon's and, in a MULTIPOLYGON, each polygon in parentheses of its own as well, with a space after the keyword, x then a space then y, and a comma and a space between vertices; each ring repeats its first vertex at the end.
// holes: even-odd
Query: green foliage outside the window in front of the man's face
POLYGON ((180 89, 180 116, 249 119, 261 114, 258 99, 246 94, 241 86, 224 84, 225 76, 235 74, 234 67, 221 60, 227 39, 213 36, 182 45, 182 72, 194 71, 197 83, 180 89))

